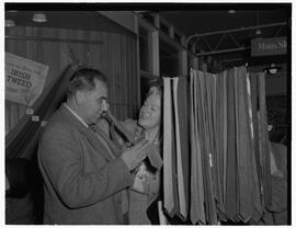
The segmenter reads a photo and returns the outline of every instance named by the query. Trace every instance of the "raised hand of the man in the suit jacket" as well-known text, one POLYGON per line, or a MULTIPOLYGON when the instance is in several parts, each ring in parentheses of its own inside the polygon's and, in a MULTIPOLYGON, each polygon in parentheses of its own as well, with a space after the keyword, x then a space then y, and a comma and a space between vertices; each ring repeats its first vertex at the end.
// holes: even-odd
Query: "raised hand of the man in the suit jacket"
POLYGON ((121 158, 124 160, 129 171, 134 170, 147 156, 149 141, 141 140, 137 145, 123 151, 121 158))

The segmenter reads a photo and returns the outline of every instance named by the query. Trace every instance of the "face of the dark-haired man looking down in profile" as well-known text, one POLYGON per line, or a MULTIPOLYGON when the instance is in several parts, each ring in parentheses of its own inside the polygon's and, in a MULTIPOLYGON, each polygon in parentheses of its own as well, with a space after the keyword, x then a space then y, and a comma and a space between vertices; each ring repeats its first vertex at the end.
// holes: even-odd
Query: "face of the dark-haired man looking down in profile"
POLYGON ((80 111, 88 124, 95 124, 104 111, 103 100, 107 99, 107 87, 104 82, 94 79, 95 88, 83 91, 83 101, 80 111))

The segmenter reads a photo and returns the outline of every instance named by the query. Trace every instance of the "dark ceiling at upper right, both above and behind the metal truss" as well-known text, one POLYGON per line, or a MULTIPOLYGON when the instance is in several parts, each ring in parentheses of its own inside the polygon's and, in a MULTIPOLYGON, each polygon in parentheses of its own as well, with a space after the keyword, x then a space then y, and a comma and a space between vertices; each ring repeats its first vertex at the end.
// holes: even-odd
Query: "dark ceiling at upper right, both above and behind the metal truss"
POLYGON ((225 5, 215 5, 210 9, 206 8, 197 10, 195 8, 196 10, 158 11, 158 13, 180 32, 185 34, 186 37, 190 37, 191 35, 200 36, 198 39, 191 38, 187 43, 189 45, 192 45, 193 43, 196 44, 195 53, 202 53, 201 55, 204 56, 212 56, 224 65, 228 65, 229 62, 231 62, 231 65, 242 62, 258 65, 269 62, 271 59, 277 62, 286 61, 283 56, 251 58, 250 41, 255 38, 255 30, 247 29, 251 26, 283 23, 285 24, 284 26, 261 27, 262 34, 260 37, 288 36, 291 30, 288 30, 288 26, 286 25, 291 23, 291 5, 271 7, 265 4, 265 7, 261 5, 254 8, 253 5, 253 8, 247 7, 246 9, 242 9, 239 4, 236 7, 226 8, 225 5), (229 13, 228 10, 235 10, 235 13, 229 13), (243 30, 239 32, 223 33, 223 31, 236 31, 237 29, 243 30), (209 35, 212 32, 217 31, 220 31, 221 33, 209 35), (232 52, 231 49, 234 47, 243 48, 239 52, 232 52), (215 50, 226 52, 217 52, 217 54, 215 54, 215 50))

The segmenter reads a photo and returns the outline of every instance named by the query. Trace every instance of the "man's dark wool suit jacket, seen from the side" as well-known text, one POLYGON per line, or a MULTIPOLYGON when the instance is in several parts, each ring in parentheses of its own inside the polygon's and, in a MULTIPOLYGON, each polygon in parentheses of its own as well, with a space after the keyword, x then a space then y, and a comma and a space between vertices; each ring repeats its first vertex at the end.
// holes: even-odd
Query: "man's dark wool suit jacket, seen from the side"
POLYGON ((38 148, 44 224, 123 223, 122 190, 133 180, 105 146, 65 105, 49 119, 38 148))

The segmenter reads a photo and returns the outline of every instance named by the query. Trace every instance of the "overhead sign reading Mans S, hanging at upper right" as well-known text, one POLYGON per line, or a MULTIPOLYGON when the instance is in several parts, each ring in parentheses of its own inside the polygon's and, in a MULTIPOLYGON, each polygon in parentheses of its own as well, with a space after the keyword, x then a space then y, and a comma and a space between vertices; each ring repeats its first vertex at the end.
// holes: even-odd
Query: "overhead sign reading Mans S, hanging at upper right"
POLYGON ((251 56, 274 56, 287 53, 287 38, 255 38, 251 41, 251 56))

